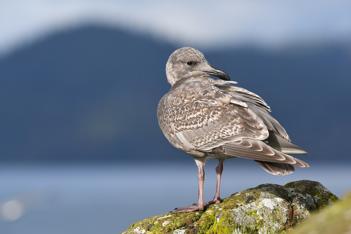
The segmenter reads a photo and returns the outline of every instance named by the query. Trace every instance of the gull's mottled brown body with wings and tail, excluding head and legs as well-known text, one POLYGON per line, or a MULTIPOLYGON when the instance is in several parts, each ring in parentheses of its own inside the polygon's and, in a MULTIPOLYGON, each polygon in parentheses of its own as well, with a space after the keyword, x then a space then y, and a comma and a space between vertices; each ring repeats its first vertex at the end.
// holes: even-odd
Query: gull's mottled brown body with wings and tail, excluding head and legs
POLYGON ((194 76, 177 82, 161 99, 158 119, 169 139, 192 150, 253 159, 272 174, 291 173, 290 165, 308 167, 285 154, 306 152, 290 143, 267 111, 266 102, 246 89, 194 76))

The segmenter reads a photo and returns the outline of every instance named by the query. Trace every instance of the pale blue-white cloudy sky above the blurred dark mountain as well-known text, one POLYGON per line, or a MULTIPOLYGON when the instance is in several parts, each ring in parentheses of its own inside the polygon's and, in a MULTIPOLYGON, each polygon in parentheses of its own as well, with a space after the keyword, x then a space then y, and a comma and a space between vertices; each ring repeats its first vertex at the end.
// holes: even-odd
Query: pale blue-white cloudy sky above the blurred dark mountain
POLYGON ((102 24, 201 46, 351 39, 351 1, 0 0, 0 56, 57 30, 102 24))

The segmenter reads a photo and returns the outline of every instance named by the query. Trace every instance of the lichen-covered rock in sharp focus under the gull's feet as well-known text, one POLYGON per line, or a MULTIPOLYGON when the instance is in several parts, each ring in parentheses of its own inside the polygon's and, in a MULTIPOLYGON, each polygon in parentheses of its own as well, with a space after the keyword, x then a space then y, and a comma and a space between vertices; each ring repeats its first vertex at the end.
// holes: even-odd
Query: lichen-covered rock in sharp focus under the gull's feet
POLYGON ((306 220, 312 210, 336 200, 337 196, 315 181, 263 184, 234 193, 204 212, 166 213, 141 220, 122 234, 285 233, 306 220))

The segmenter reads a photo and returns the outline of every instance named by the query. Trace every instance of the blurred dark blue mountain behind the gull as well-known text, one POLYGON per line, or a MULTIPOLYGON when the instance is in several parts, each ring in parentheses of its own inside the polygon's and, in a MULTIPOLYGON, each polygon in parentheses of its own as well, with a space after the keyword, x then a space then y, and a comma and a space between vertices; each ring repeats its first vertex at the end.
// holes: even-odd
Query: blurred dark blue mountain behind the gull
MULTIPOLYGON (((184 160, 159 129, 158 101, 177 48, 115 28, 57 32, 0 60, 0 160, 184 160)), ((222 48, 222 46, 221 46, 222 48)), ((201 49, 260 95, 315 160, 350 160, 347 45, 201 49)), ((309 157, 306 159, 305 157, 309 157)))

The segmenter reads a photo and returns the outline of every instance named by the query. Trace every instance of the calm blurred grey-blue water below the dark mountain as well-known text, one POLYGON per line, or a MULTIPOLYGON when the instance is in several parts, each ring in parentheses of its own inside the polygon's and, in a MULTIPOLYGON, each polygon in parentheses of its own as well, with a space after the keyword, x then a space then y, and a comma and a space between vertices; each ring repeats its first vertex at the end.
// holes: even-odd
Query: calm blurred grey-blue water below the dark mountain
MULTIPOLYGON (((349 164, 319 164, 274 176, 248 160, 227 160, 221 198, 261 183, 308 179, 342 197, 349 164)), ((204 200, 213 198, 216 161, 205 166, 204 200)), ((1 234, 120 233, 133 222, 197 202, 197 167, 188 163, 0 166, 1 234)))

